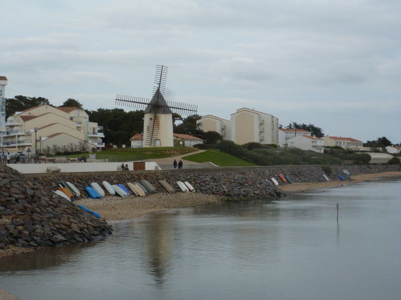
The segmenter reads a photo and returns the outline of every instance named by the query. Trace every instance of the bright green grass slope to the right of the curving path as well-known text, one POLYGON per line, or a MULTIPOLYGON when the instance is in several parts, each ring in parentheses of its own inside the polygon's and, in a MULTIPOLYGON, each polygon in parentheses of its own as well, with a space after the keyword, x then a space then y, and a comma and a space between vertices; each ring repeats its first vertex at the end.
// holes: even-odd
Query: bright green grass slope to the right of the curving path
POLYGON ((206 162, 211 161, 214 164, 220 166, 250 166, 257 165, 255 163, 243 160, 237 156, 231 155, 226 152, 220 152, 219 150, 206 150, 205 152, 187 155, 182 157, 183 159, 195 161, 195 162, 206 162))

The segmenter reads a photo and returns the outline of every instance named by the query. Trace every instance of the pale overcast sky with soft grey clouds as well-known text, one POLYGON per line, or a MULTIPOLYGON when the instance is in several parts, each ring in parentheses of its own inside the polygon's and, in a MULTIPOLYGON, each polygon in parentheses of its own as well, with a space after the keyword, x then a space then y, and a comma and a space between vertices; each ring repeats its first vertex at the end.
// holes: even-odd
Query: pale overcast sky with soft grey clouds
POLYGON ((200 115, 248 107, 283 126, 401 142, 399 0, 0 3, 8 98, 114 108, 117 94, 151 97, 164 64, 166 100, 200 115))

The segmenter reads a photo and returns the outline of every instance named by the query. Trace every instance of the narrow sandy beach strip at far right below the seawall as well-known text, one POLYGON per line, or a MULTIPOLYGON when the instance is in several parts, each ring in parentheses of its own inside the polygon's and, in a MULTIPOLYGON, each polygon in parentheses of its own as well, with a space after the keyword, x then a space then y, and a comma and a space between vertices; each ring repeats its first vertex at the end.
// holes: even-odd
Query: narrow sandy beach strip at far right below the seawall
POLYGON ((350 180, 340 181, 340 180, 330 180, 325 182, 296 182, 291 184, 280 185, 279 187, 285 192, 291 191, 301 191, 312 188, 327 188, 327 187, 335 187, 346 184, 353 184, 362 181, 379 179, 379 178, 392 178, 392 177, 401 177, 401 172, 382 172, 382 173, 373 173, 373 174, 361 174, 351 176, 350 180))

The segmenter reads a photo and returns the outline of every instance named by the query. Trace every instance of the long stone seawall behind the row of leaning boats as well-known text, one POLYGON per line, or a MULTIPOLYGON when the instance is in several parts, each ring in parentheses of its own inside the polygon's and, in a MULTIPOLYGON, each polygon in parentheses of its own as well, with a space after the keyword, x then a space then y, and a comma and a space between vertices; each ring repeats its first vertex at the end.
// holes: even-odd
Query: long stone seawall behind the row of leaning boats
MULTIPOLYGON (((342 174, 343 166, 330 166, 332 174, 329 177, 337 180, 336 174, 342 174)), ((348 165, 346 169, 351 175, 380 173, 387 171, 401 171, 400 165, 348 165)), ((35 174, 32 180, 38 184, 54 189, 60 180, 73 182, 81 191, 91 182, 106 180, 111 184, 126 183, 146 179, 159 191, 164 188, 158 180, 166 180, 180 191, 177 180, 188 181, 197 192, 215 194, 227 197, 277 197, 283 195, 280 189, 270 185, 266 179, 275 177, 279 182, 278 174, 290 177, 293 182, 322 182, 325 181, 324 171, 320 165, 305 166, 260 166, 260 167, 232 167, 208 169, 182 169, 157 171, 121 171, 106 173, 63 173, 63 174, 35 174)), ((86 194, 85 192, 83 194, 86 194)))

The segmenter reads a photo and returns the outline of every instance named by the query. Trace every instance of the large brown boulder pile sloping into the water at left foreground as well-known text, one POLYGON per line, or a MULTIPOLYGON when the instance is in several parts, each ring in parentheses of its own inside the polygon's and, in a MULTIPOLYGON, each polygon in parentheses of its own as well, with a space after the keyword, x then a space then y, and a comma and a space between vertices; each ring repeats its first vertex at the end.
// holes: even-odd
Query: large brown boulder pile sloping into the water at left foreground
POLYGON ((0 249, 34 248, 100 239, 112 231, 48 187, 0 166, 0 249))

